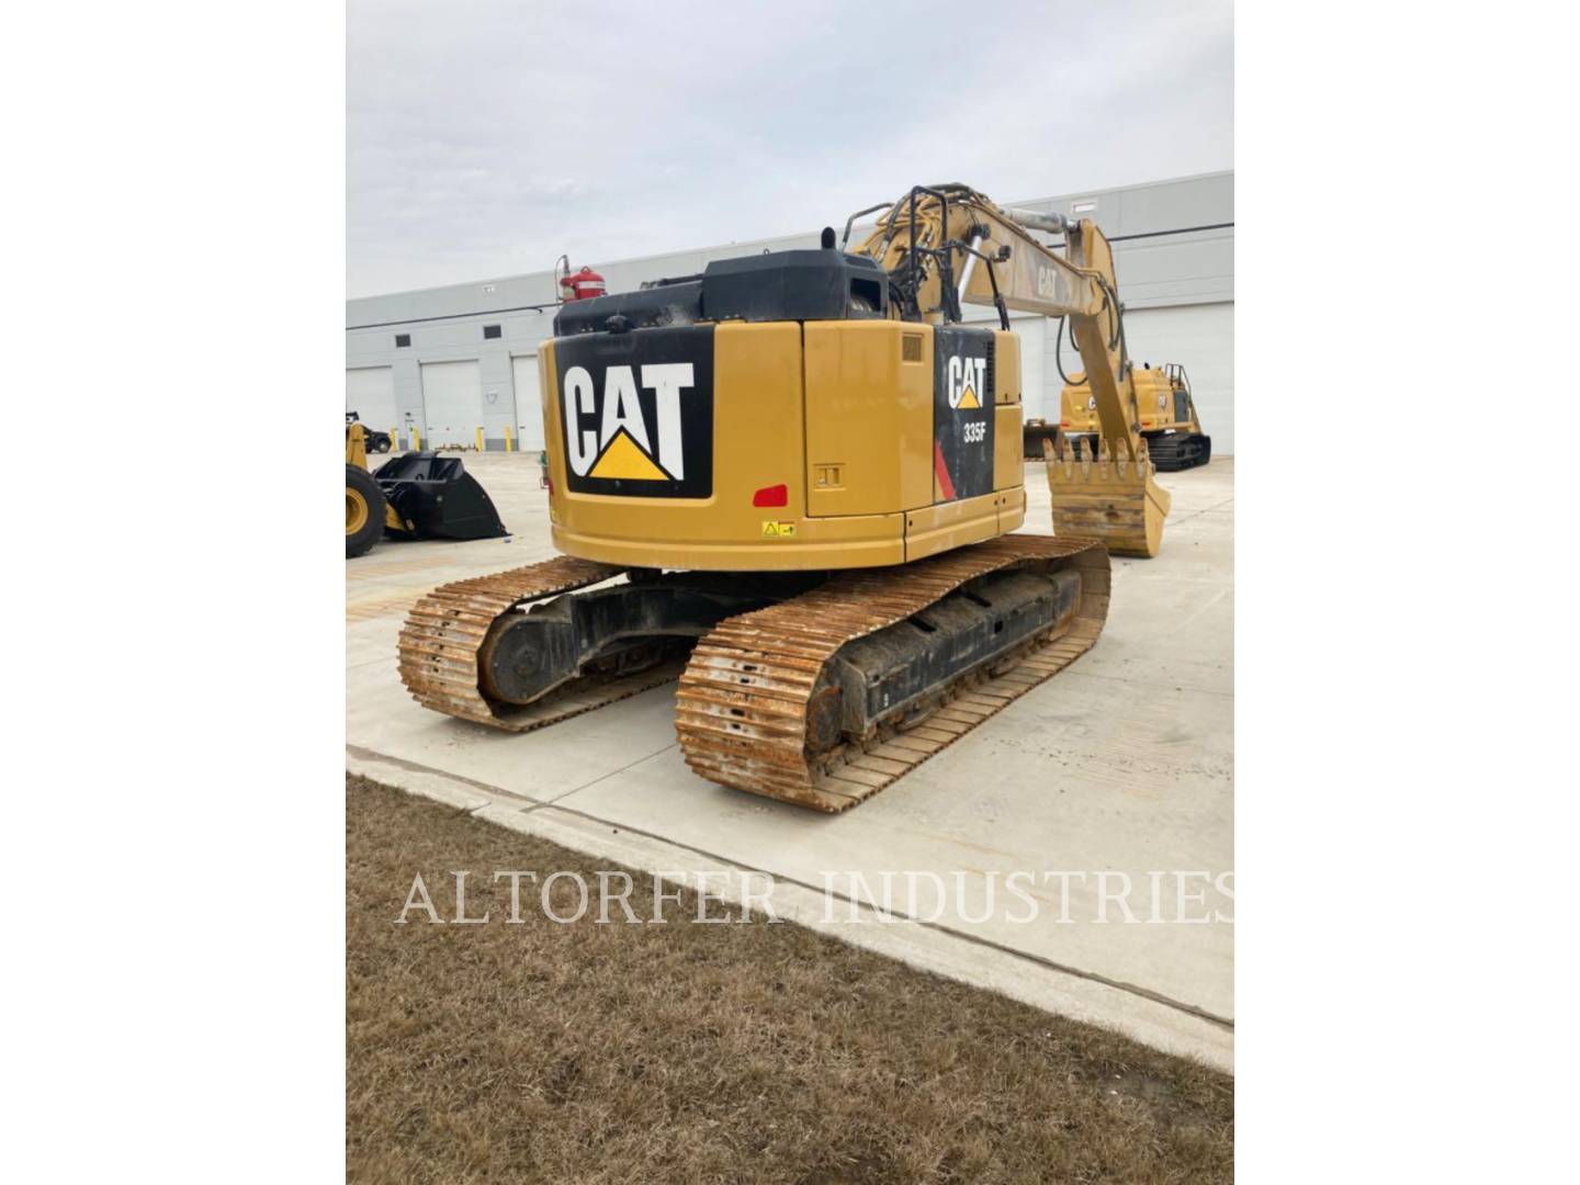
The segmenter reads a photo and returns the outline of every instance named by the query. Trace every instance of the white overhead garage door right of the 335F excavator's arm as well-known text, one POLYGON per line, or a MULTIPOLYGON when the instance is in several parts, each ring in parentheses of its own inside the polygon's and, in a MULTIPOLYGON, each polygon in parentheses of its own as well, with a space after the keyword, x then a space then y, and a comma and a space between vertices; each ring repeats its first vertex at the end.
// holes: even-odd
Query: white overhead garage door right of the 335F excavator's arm
POLYGON ((1127 310, 1125 341, 1138 367, 1185 365, 1201 428, 1212 436, 1212 455, 1232 457, 1234 303, 1127 310))

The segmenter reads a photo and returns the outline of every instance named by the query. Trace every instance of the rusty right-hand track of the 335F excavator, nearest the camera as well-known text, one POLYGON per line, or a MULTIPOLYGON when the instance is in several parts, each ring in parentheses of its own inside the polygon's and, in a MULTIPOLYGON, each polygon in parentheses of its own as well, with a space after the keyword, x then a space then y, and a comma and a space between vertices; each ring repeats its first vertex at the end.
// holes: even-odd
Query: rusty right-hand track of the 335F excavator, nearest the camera
POLYGON ((820 588, 724 621, 681 675, 675 728, 686 763, 709 781, 817 811, 845 811, 953 744, 1059 673, 1103 632, 1109 561, 1100 542, 1000 536, 931 559, 848 570, 820 588), (1073 619, 973 667, 929 711, 861 739, 814 739, 826 672, 842 646, 935 605, 967 581, 1011 567, 1074 569, 1073 619))

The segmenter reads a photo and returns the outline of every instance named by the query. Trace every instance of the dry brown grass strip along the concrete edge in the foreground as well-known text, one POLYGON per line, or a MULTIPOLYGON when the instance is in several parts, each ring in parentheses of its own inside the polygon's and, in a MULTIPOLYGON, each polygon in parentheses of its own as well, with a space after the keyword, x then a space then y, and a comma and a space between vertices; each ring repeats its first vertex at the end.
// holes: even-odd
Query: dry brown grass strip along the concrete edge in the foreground
POLYGON ((356 777, 346 815, 352 1180, 1232 1177, 1220 1073, 793 924, 506 924, 495 869, 600 864, 356 777), (392 924, 450 869, 495 921, 392 924))

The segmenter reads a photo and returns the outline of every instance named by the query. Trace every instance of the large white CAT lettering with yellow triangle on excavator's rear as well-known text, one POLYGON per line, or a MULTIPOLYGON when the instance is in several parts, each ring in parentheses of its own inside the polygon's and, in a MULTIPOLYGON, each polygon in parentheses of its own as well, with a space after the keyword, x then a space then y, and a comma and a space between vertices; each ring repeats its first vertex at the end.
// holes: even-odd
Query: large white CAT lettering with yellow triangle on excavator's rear
POLYGON ((690 362, 641 367, 640 379, 637 367, 608 367, 604 371, 604 414, 599 416, 592 376, 586 367, 570 367, 562 393, 570 471, 577 477, 684 482, 681 392, 695 381, 690 362), (637 398, 638 386, 654 392, 657 423, 651 434, 637 398))

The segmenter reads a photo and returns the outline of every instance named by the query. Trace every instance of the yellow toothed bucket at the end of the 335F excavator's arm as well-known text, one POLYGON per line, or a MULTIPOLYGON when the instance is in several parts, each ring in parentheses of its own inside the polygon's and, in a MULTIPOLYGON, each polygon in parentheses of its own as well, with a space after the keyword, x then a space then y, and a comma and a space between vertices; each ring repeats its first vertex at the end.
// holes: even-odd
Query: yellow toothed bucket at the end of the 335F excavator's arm
POLYGON ((1101 539, 1117 556, 1150 559, 1163 545, 1169 491, 1153 480, 1147 442, 1136 442, 1134 461, 1098 455, 1079 446, 1051 441, 1043 446, 1048 490, 1054 502, 1054 536, 1101 539))

